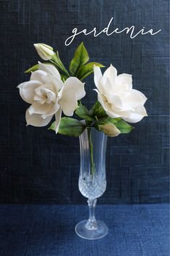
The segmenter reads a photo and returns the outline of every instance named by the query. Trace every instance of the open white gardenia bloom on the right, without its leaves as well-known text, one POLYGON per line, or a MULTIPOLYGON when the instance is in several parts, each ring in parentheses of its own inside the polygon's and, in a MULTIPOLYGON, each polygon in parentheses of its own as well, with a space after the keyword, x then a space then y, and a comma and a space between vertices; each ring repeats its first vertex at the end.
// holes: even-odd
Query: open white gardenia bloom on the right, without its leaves
POLYGON ((117 75, 112 65, 102 75, 100 67, 94 66, 94 80, 98 102, 109 117, 122 117, 129 123, 137 123, 147 116, 144 107, 147 98, 132 88, 132 75, 117 75))

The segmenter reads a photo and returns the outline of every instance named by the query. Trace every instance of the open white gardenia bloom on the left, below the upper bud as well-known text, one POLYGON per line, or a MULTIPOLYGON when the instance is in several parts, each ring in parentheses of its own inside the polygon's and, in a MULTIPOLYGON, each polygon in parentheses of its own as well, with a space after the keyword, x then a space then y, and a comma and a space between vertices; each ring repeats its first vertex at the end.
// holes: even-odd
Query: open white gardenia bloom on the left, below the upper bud
POLYGON ((30 81, 17 87, 20 88, 22 99, 31 104, 25 115, 27 125, 48 125, 55 115, 56 133, 61 112, 72 116, 77 107, 77 100, 85 96, 84 83, 75 77, 62 82, 59 71, 53 65, 40 62, 38 70, 30 76, 30 81))

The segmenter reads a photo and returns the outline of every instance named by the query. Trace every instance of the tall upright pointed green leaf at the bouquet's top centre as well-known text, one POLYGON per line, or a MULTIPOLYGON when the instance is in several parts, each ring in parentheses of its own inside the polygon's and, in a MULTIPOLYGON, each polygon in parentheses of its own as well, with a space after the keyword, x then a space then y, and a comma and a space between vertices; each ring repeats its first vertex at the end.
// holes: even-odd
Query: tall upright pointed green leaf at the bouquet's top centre
POLYGON ((88 51, 85 49, 83 42, 75 50, 75 55, 70 62, 69 71, 71 75, 76 75, 77 70, 81 65, 84 65, 89 60, 88 51))

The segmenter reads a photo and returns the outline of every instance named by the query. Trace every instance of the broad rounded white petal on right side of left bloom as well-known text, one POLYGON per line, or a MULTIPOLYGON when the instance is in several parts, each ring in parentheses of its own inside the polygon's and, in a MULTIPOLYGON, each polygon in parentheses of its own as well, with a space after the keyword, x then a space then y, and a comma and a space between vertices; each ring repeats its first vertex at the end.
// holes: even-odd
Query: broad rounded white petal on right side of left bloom
POLYGON ((64 82, 64 89, 62 94, 67 94, 67 91, 73 91, 77 100, 82 99, 85 96, 85 83, 82 83, 78 78, 71 77, 64 82))

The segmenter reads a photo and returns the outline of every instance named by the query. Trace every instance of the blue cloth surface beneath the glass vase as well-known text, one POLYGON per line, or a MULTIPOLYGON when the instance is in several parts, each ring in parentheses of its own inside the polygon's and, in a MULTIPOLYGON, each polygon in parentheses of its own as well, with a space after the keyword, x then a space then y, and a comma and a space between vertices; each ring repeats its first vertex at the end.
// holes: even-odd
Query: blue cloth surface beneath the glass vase
POLYGON ((85 205, 1 205, 1 256, 168 256, 169 205, 98 205, 109 226, 99 240, 80 239, 85 205))

